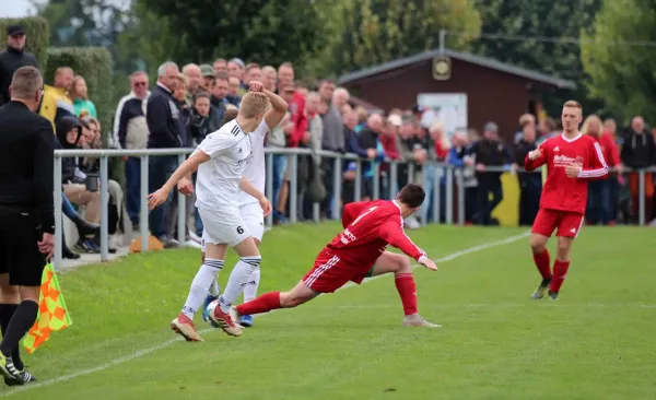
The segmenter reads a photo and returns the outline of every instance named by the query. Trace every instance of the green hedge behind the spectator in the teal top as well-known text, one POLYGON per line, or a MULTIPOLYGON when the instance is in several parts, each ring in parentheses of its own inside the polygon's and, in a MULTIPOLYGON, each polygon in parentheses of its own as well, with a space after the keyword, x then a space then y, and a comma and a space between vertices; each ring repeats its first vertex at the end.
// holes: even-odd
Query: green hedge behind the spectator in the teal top
POLYGON ((51 84, 55 70, 70 67, 77 75, 84 77, 89 98, 95 104, 103 126, 103 141, 112 129, 112 114, 116 104, 112 102, 112 55, 104 47, 59 47, 48 49, 45 81, 51 84))

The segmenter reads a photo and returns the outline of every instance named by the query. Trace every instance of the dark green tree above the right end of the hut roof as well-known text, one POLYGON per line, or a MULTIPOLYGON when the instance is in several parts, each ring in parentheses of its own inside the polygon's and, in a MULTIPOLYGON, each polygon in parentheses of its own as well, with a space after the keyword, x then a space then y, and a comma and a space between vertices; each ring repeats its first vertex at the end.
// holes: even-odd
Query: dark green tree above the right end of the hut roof
POLYGON ((553 93, 546 96, 548 109, 560 113, 562 102, 575 97, 586 110, 596 109, 583 84, 581 31, 591 25, 602 0, 477 0, 483 20, 483 35, 475 45, 477 54, 495 58, 547 74, 572 80, 574 93, 553 93), (494 35, 506 38, 494 37, 494 35), (536 38, 542 38, 538 40, 536 38))

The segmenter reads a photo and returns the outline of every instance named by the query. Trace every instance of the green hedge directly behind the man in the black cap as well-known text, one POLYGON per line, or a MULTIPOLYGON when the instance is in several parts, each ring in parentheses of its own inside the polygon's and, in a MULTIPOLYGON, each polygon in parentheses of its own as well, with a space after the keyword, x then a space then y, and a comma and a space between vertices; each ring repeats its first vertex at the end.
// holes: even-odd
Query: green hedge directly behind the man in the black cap
POLYGON ((27 16, 24 19, 0 19, 0 49, 7 47, 7 27, 21 25, 25 30, 27 40, 25 50, 36 56, 39 67, 43 69, 48 62, 48 46, 50 45, 50 24, 40 16, 27 16))

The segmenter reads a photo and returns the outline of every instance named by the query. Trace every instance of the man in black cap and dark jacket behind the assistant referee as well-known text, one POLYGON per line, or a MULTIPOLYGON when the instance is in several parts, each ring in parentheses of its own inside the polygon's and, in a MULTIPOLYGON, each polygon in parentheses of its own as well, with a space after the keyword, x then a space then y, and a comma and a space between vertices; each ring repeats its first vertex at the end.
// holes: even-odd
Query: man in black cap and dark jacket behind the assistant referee
POLYGON ((7 50, 0 52, 0 106, 9 103, 9 85, 11 79, 21 67, 38 68, 33 54, 25 51, 25 30, 21 25, 7 27, 7 50))

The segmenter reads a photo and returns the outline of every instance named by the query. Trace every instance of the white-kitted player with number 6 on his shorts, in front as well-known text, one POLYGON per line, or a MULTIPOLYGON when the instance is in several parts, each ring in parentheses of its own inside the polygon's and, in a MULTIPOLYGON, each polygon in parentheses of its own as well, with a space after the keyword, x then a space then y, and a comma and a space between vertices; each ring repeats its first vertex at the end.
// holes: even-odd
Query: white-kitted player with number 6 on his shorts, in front
POLYGON ((263 215, 271 212, 269 200, 243 176, 253 158, 248 133, 263 129, 260 128, 261 123, 269 128, 276 127, 284 117, 288 104, 280 96, 265 90, 260 82, 250 82, 249 86, 250 91, 239 104, 237 118, 210 133, 168 181, 149 196, 152 210, 166 200, 176 184, 180 191, 189 191, 189 186, 192 185, 190 176, 198 169, 196 207, 204 227, 202 238, 206 259, 194 278, 181 313, 171 322, 171 328, 188 341, 202 341, 196 331, 194 316, 223 268, 229 247, 233 247, 239 255, 239 261, 230 275, 225 291, 219 297, 220 307, 216 307, 213 320, 226 333, 242 334, 242 326, 232 320, 229 310, 242 294, 248 278, 259 269, 261 261, 259 250, 238 210, 244 191, 257 199, 263 215))

